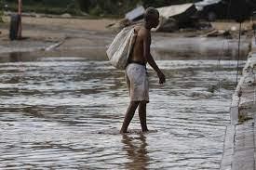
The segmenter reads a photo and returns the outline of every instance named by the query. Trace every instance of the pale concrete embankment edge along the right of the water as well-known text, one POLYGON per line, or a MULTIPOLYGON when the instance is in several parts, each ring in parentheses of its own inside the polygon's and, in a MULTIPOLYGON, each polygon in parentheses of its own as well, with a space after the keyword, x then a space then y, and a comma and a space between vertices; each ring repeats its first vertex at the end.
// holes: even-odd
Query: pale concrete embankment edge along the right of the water
POLYGON ((233 95, 231 124, 227 126, 221 170, 256 169, 256 45, 251 52, 242 77, 233 95))

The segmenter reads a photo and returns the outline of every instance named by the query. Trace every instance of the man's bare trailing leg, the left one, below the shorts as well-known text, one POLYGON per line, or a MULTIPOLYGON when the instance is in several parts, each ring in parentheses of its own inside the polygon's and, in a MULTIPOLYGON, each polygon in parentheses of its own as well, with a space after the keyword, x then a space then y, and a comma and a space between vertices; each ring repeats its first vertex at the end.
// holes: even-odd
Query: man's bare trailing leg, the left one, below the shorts
POLYGON ((120 133, 127 133, 128 132, 128 124, 130 123, 131 119, 134 116, 134 112, 136 111, 139 101, 130 101, 129 106, 128 106, 128 111, 126 113, 124 123, 122 125, 122 128, 120 130, 120 133))

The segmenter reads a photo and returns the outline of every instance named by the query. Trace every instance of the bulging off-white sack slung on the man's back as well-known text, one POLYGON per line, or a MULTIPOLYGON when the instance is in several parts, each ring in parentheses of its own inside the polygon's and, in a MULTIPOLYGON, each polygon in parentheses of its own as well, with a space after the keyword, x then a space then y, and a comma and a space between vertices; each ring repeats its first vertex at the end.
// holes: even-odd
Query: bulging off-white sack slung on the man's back
POLYGON ((133 27, 124 28, 115 36, 114 41, 106 51, 108 59, 115 68, 121 70, 126 69, 136 37, 137 33, 133 27))

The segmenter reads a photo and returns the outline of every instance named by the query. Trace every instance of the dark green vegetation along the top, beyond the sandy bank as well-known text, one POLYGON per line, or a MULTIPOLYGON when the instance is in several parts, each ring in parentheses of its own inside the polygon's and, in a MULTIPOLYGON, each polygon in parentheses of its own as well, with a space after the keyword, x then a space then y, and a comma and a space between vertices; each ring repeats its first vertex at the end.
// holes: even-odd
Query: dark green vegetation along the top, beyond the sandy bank
MULTIPOLYGON (((3 0, 0 0, 3 1, 3 0)), ((17 10, 17 0, 6 0, 7 10, 17 10)), ((23 11, 37 13, 123 17, 134 7, 164 7, 173 4, 193 3, 199 0, 22 0, 23 11)))

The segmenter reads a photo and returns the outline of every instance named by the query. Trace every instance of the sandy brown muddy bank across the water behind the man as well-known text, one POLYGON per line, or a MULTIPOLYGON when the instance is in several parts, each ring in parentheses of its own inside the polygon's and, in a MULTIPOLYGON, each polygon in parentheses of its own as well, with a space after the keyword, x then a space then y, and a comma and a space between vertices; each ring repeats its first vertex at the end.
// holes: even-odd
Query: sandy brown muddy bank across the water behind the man
MULTIPOLYGON (((117 20, 81 20, 47 17, 23 17, 22 41, 8 40, 9 18, 0 26, 0 54, 27 53, 26 55, 43 56, 80 56, 99 58, 105 55, 116 32, 109 30, 108 25, 117 20)), ((156 59, 167 59, 169 56, 192 58, 216 58, 221 51, 224 58, 236 56, 237 28, 235 22, 214 22, 209 30, 181 30, 177 33, 153 33, 153 53, 156 59), (214 30, 221 32, 235 29, 233 39, 223 36, 208 37, 214 30), (225 47, 223 47, 223 41, 225 47), (189 46, 189 47, 188 47, 189 46)), ((250 23, 243 24, 242 56, 246 57, 251 33, 250 23)))

